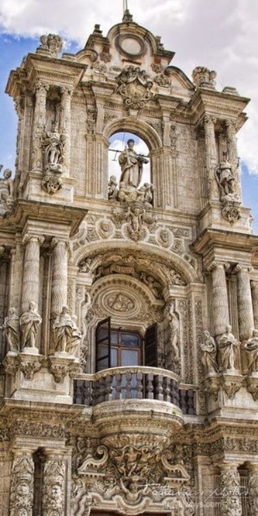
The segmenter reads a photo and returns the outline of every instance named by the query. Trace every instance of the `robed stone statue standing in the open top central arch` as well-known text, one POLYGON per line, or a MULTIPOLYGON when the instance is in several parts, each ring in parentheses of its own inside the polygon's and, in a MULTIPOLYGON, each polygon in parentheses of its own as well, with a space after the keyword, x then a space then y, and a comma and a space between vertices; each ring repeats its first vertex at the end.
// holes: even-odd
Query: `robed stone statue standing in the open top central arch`
POLYGON ((128 140, 125 151, 119 156, 119 163, 122 170, 120 182, 123 182, 125 186, 138 188, 142 180, 143 164, 149 163, 149 160, 133 150, 134 143, 134 140, 128 140))

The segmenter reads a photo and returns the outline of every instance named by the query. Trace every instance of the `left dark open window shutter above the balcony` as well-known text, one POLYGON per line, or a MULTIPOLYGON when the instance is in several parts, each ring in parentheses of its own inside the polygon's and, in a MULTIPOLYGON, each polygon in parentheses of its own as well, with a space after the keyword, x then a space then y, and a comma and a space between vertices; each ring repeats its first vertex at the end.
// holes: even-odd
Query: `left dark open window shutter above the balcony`
POLYGON ((110 317, 96 327, 96 372, 110 367, 110 317))

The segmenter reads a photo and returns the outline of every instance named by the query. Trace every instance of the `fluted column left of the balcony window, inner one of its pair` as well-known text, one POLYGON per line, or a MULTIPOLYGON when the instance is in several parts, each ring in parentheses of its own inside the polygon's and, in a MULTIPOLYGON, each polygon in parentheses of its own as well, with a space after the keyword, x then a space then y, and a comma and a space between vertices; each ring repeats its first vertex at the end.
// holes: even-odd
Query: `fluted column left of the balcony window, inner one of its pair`
POLYGON ((54 238, 52 246, 54 247, 51 292, 51 315, 53 318, 61 313, 63 306, 67 305, 68 242, 54 238))

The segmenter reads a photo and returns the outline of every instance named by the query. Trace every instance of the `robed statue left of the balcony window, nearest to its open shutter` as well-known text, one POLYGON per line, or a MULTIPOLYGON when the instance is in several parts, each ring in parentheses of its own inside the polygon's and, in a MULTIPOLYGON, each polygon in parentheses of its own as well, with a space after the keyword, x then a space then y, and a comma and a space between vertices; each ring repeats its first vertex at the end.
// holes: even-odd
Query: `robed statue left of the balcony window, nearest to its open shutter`
POLYGON ((69 314, 67 306, 63 306, 61 314, 56 316, 53 324, 54 351, 78 356, 81 332, 77 327, 77 319, 69 314))

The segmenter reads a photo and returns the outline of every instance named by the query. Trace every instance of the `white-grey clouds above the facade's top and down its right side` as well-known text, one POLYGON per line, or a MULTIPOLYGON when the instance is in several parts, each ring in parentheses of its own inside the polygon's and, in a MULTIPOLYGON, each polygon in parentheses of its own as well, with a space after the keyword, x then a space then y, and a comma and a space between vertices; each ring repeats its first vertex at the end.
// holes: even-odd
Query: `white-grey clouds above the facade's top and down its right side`
MULTIPOLYGON (((129 0, 137 23, 162 36, 173 63, 191 77, 197 65, 217 71, 217 86, 252 98, 250 120, 239 133, 239 155, 258 174, 257 0, 129 0)), ((122 18, 122 0, 0 0, 3 32, 39 36, 59 32, 81 47, 100 23, 103 32, 122 18)))

